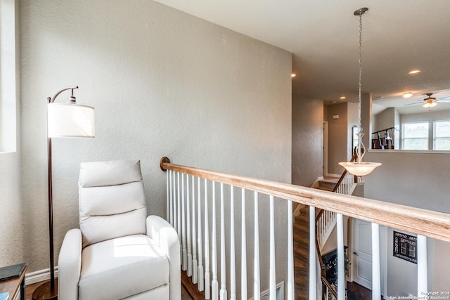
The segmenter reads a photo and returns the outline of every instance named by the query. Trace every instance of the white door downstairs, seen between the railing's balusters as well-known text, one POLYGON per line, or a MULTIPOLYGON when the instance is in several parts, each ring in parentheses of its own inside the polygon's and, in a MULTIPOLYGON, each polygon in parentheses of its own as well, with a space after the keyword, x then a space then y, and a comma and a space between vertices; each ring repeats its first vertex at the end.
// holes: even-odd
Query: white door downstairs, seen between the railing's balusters
MULTIPOLYGON (((372 224, 353 219, 353 259, 352 274, 354 282, 372 289, 372 224)), ((380 226, 380 282, 381 292, 385 294, 386 228, 380 226)))

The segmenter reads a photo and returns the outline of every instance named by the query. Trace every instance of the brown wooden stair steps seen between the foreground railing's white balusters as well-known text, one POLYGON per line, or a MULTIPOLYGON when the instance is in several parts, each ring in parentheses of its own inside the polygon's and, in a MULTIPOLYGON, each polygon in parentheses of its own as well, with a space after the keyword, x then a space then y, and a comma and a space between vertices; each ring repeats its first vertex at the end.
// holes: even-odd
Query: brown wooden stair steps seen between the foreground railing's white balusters
POLYGON ((293 224, 295 299, 309 296, 309 207, 300 209, 293 224))

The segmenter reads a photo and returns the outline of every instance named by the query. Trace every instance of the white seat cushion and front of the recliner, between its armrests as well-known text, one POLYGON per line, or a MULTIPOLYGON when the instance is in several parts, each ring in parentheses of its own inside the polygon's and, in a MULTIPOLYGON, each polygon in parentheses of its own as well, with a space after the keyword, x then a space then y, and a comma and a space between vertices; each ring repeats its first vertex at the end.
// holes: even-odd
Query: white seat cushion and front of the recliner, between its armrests
POLYGON ((83 249, 79 299, 123 299, 169 285, 169 259, 147 235, 105 240, 83 249))

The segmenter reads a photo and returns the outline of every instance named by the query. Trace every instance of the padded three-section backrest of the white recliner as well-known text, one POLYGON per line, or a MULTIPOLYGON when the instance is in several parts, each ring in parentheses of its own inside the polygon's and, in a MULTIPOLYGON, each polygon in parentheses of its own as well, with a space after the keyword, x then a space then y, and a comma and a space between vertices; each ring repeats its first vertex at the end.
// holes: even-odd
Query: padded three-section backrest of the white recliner
POLYGON ((147 207, 139 160, 82 162, 78 186, 83 247, 146 233, 147 207))

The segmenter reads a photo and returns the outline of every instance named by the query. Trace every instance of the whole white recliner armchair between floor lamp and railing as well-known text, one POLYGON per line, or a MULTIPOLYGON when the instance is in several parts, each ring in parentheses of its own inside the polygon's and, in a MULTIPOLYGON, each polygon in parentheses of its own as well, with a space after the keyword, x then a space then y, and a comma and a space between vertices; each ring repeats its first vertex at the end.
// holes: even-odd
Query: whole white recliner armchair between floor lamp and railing
POLYGON ((181 299, 179 237, 147 216, 139 160, 82 163, 79 229, 60 249, 58 298, 181 299))

